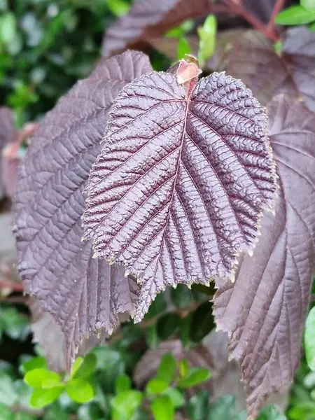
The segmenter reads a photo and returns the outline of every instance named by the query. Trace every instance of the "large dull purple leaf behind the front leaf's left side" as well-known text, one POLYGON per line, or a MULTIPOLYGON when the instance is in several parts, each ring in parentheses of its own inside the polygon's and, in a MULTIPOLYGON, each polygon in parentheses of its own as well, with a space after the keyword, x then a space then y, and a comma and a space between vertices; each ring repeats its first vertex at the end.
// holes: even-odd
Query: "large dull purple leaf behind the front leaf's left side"
POLYGON ((15 197, 18 268, 25 290, 62 327, 67 365, 83 337, 111 332, 134 311, 137 283, 120 267, 92 260, 81 243, 83 187, 97 157, 108 111, 120 89, 151 71, 136 52, 99 63, 90 78, 59 100, 34 135, 15 197))

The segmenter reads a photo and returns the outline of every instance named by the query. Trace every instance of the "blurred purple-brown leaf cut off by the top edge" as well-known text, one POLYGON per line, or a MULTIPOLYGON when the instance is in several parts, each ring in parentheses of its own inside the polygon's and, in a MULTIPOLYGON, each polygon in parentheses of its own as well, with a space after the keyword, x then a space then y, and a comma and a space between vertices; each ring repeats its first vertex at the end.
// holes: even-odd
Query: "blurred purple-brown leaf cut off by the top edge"
POLYGON ((137 41, 165 34, 186 19, 211 13, 211 1, 137 0, 130 13, 116 21, 104 38, 102 54, 106 57, 137 41))

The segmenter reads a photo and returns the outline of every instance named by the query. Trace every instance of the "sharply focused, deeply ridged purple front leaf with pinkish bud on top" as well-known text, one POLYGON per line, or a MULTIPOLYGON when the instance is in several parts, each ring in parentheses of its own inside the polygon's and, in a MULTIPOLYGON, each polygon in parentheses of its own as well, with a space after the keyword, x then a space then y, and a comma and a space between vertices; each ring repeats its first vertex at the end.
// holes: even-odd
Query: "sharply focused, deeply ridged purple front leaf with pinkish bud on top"
POLYGON ((232 278, 237 255, 255 245, 262 210, 272 207, 262 107, 225 73, 191 93, 192 82, 186 91, 174 74, 151 73, 127 85, 86 188, 85 239, 94 256, 139 279, 135 321, 166 286, 232 278))

